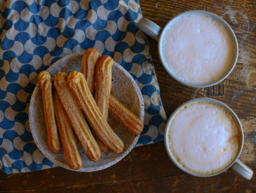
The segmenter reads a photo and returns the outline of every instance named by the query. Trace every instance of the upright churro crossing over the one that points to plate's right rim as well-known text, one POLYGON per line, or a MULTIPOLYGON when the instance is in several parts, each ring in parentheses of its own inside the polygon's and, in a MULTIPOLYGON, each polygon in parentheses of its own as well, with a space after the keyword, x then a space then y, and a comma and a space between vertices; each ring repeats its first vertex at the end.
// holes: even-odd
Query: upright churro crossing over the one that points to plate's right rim
POLYGON ((113 65, 114 60, 107 55, 101 56, 96 64, 95 102, 106 120, 108 120, 113 65))

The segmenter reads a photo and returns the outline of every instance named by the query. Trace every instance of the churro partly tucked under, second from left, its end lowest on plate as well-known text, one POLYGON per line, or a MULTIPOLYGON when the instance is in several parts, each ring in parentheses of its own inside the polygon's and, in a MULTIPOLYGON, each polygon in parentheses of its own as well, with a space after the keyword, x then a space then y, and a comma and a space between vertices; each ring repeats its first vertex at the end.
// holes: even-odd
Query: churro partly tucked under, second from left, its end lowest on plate
POLYGON ((57 91, 52 90, 53 94, 53 104, 55 107, 55 115, 57 120, 57 125, 59 128, 60 139, 63 146, 64 157, 67 165, 73 169, 77 170, 82 167, 82 158, 80 156, 79 150, 77 149, 77 141, 71 123, 68 120, 68 116, 60 102, 57 91))

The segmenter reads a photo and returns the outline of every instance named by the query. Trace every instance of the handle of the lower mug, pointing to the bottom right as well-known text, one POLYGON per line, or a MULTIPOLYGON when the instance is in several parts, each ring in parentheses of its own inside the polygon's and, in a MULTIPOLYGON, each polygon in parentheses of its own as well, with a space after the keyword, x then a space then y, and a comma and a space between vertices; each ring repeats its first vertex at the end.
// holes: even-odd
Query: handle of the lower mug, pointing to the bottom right
POLYGON ((253 170, 251 170, 248 166, 245 165, 245 163, 241 162, 238 159, 231 166, 231 169, 236 171, 245 179, 251 179, 253 177, 253 170))

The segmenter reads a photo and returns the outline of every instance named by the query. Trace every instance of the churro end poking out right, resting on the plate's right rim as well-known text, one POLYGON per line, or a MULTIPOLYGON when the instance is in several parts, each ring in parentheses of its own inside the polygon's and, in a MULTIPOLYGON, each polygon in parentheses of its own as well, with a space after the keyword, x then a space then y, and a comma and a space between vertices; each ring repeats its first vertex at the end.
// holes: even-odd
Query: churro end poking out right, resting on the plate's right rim
POLYGON ((144 127, 141 119, 126 108, 113 95, 109 98, 109 111, 130 132, 139 135, 144 127))

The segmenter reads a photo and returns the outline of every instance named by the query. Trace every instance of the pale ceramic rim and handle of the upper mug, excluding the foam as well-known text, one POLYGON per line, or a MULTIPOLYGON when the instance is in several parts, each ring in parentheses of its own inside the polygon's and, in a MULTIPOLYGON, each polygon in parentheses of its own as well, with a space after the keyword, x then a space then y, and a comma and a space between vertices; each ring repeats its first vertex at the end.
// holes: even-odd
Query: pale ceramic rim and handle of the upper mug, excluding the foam
POLYGON ((219 16, 217 16, 211 12, 201 11, 201 10, 182 12, 181 14, 172 18, 166 24, 166 26, 164 26, 164 28, 159 27, 154 22, 151 22, 151 20, 148 20, 146 18, 141 18, 141 20, 139 20, 139 22, 138 22, 138 27, 140 30, 142 30, 144 33, 146 33, 146 35, 148 35, 148 36, 152 37, 152 39, 155 39, 156 41, 158 41, 158 52, 159 52, 159 57, 163 64, 163 67, 166 69, 167 73, 171 75, 171 77, 176 79, 176 81, 183 83, 184 85, 191 86, 191 87, 208 87, 208 86, 216 85, 217 83, 223 81, 226 77, 228 77, 228 75, 232 72, 234 66, 236 65, 237 58, 238 58, 238 43, 237 43, 236 35, 234 34, 234 32, 233 32, 232 28, 229 26, 229 24, 225 22, 225 20, 221 19, 219 16), (198 83, 198 82, 195 83, 195 82, 184 81, 184 79, 180 78, 176 73, 173 72, 173 70, 170 68, 170 66, 168 67, 167 62, 164 61, 164 59, 163 59, 162 47, 163 47, 163 42, 166 41, 166 39, 164 39, 164 34, 168 30, 168 28, 172 27, 172 25, 177 20, 179 20, 180 18, 182 18, 184 16, 188 16, 191 14, 200 14, 203 16, 207 16, 207 17, 213 19, 214 21, 220 23, 221 26, 223 26, 225 28, 225 30, 228 32, 230 40, 232 42, 233 53, 232 53, 232 58, 230 59, 230 64, 229 64, 228 68, 225 69, 225 72, 221 73, 220 77, 217 77, 217 79, 214 79, 213 81, 204 82, 204 83, 198 83))

